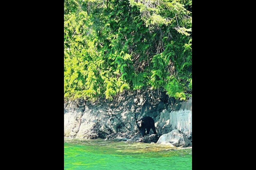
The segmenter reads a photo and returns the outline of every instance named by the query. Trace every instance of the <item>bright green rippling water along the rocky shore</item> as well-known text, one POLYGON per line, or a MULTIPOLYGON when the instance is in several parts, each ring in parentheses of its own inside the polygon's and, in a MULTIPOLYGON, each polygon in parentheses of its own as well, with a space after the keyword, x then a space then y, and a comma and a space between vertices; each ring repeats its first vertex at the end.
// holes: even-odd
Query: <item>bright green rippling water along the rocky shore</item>
POLYGON ((71 169, 192 169, 192 149, 102 139, 64 139, 64 170, 71 169))

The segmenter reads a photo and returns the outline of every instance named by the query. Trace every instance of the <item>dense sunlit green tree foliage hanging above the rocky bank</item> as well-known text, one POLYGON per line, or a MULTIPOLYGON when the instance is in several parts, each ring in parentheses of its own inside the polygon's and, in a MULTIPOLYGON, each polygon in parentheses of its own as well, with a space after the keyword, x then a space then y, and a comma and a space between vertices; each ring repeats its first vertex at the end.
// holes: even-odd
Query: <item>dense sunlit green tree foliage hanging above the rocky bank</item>
POLYGON ((192 0, 64 0, 64 100, 192 96, 192 0))

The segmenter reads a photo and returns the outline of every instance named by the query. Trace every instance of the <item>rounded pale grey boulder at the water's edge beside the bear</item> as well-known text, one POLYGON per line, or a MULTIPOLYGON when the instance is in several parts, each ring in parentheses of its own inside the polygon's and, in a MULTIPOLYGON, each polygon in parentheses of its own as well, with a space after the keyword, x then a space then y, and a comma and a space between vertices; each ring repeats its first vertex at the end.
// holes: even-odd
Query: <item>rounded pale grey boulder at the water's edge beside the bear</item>
POLYGON ((168 134, 162 135, 157 142, 160 145, 172 145, 174 147, 187 147, 189 143, 185 134, 179 130, 173 130, 168 134))

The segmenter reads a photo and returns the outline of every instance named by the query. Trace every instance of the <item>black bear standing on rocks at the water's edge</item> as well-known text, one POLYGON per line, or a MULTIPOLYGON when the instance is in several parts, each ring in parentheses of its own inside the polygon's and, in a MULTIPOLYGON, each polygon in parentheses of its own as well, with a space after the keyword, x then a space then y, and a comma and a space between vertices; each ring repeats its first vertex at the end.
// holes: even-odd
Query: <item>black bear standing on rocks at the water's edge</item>
POLYGON ((154 134, 157 134, 157 131, 155 131, 155 121, 153 118, 149 116, 143 117, 141 120, 136 121, 136 123, 138 129, 141 131, 142 137, 145 136, 145 133, 149 134, 150 128, 153 130, 154 134))

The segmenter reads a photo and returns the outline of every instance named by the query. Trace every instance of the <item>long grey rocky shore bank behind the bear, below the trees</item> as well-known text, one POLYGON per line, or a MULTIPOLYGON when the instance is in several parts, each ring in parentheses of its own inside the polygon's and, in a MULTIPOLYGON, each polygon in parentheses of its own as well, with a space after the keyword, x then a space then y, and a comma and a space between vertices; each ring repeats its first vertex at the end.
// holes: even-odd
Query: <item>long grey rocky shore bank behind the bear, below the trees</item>
POLYGON ((124 96, 113 102, 75 100, 64 103, 64 137, 121 137, 150 143, 157 142, 158 136, 178 129, 192 140, 192 99, 175 104, 165 94, 152 96, 151 92, 144 92, 124 96), (158 135, 151 135, 151 130, 149 135, 141 137, 135 122, 145 116, 154 119, 158 135))

